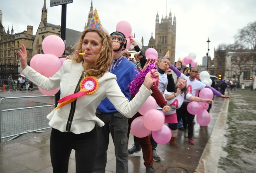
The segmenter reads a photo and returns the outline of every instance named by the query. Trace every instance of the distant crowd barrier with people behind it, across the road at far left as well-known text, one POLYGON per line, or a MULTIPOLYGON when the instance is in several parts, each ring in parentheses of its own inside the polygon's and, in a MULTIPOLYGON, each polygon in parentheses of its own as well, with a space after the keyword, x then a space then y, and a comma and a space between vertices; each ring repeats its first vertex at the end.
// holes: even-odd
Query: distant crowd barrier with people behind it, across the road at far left
POLYGON ((10 90, 34 90, 34 84, 31 81, 20 83, 19 80, 0 80, 0 91, 10 90))

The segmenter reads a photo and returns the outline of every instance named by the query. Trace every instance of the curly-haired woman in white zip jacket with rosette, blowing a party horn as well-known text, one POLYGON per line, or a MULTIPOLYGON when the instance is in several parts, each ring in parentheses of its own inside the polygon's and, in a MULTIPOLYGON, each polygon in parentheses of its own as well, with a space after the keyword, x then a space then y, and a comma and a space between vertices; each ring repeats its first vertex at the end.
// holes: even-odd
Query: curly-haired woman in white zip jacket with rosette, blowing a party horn
POLYGON ((23 74, 44 90, 60 88, 59 105, 47 115, 52 127, 50 154, 53 173, 67 173, 69 157, 75 150, 76 173, 91 173, 97 153, 95 124, 104 122, 95 116, 105 97, 124 116, 131 118, 151 95, 158 71, 149 72, 135 98, 129 100, 121 92, 116 76, 108 72, 112 63, 112 42, 105 31, 86 29, 77 44, 78 55, 64 61, 53 77, 44 77, 27 65, 24 45, 18 52, 23 74), (154 79, 155 78, 155 79, 154 79))

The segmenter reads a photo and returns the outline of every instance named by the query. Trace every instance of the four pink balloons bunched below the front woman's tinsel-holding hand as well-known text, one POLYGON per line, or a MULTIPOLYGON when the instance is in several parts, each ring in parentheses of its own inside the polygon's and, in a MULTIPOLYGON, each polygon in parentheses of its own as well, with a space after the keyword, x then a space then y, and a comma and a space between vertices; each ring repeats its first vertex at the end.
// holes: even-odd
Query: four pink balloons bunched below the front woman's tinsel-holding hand
POLYGON ((131 132, 138 138, 146 137, 152 131, 152 137, 158 144, 167 144, 171 140, 171 130, 164 125, 163 112, 156 109, 154 97, 149 96, 138 112, 143 115, 131 123, 131 132))

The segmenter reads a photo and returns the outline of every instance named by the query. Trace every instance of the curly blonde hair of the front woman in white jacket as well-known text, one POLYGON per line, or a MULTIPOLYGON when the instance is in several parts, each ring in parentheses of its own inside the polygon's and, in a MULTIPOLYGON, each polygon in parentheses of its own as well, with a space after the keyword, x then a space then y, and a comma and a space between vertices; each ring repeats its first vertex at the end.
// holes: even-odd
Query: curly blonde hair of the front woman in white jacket
MULTIPOLYGON (((96 32, 102 38, 102 48, 98 52, 95 61, 85 64, 85 76, 102 77, 108 70, 112 62, 112 42, 109 34, 105 31, 99 31, 95 29, 85 29, 76 44, 76 50, 82 51, 82 43, 85 34, 88 32, 96 32)), ((82 55, 78 55, 74 52, 72 54, 72 60, 80 63, 84 61, 82 55)))

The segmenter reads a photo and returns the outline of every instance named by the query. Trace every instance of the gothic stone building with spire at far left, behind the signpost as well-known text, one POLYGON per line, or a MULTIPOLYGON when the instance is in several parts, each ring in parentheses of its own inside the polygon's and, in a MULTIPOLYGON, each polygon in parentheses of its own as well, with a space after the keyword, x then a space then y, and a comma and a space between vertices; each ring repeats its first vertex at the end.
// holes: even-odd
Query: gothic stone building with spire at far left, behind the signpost
MULTIPOLYGON (((11 33, 8 28, 6 33, 2 25, 3 12, 0 11, 0 63, 17 63, 19 61, 17 52, 22 44, 26 46, 29 62, 34 55, 43 53, 42 42, 45 37, 48 35, 60 36, 61 26, 47 22, 46 0, 44 0, 41 12, 41 21, 36 35, 33 35, 33 26, 27 26, 26 31, 15 34, 13 34, 13 28, 11 33)), ((73 53, 73 46, 79 41, 81 33, 66 28, 66 54, 73 53)))

